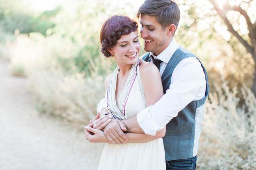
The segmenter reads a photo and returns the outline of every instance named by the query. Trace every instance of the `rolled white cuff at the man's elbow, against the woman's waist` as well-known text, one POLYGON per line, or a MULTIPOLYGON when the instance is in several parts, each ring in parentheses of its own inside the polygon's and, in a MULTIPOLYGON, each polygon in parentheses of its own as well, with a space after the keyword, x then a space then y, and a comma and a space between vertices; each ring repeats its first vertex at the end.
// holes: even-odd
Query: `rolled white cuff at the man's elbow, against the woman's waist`
POLYGON ((158 126, 150 117, 149 109, 151 107, 149 106, 137 114, 137 122, 145 134, 155 136, 158 126))

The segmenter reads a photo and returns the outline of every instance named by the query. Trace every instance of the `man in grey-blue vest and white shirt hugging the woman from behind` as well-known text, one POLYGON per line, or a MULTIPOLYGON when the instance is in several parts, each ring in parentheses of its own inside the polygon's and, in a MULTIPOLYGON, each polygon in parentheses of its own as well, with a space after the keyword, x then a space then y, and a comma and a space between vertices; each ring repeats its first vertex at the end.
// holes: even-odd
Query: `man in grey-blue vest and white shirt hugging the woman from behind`
MULTIPOLYGON (((149 52, 143 60, 160 68, 165 94, 137 116, 109 122, 104 135, 110 141, 124 143, 127 138, 122 130, 155 135, 166 125, 163 137, 166 168, 195 170, 204 103, 209 93, 206 70, 195 55, 174 39, 180 20, 175 2, 146 0, 137 16, 142 26, 144 49, 149 52)), ((97 110, 101 110, 100 105, 97 110)))

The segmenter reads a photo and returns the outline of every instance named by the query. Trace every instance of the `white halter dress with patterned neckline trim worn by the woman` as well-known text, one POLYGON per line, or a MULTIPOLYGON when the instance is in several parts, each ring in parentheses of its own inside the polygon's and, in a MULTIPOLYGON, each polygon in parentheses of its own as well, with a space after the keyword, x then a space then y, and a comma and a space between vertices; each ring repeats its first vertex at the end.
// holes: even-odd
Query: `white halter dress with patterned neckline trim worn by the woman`
MULTIPOLYGON (((115 101, 115 69, 106 91, 106 108, 117 119, 128 119, 146 107, 139 61, 132 66, 118 107, 115 101)), ((98 170, 165 170, 162 138, 147 143, 105 144, 98 170)))

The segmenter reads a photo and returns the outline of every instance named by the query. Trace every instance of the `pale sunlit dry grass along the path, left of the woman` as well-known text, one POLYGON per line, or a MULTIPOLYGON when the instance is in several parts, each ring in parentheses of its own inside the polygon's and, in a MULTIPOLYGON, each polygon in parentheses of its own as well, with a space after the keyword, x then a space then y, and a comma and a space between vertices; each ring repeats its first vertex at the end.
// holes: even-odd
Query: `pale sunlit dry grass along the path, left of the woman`
POLYGON ((37 96, 39 112, 82 126, 96 115, 96 105, 104 97, 104 78, 97 75, 85 78, 83 73, 65 72, 55 56, 72 56, 72 49, 75 51, 76 47, 59 37, 20 35, 16 42, 9 44, 10 70, 12 75, 28 77, 29 89, 37 96))

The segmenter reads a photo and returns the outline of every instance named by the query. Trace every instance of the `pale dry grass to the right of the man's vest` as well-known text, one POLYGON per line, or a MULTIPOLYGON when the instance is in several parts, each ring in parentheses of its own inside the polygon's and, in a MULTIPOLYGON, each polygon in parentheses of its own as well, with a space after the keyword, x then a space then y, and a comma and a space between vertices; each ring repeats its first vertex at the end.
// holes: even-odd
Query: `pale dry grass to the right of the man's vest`
POLYGON ((245 105, 239 108, 233 91, 223 81, 216 93, 210 93, 202 122, 199 170, 256 169, 256 99, 243 86, 245 105))

